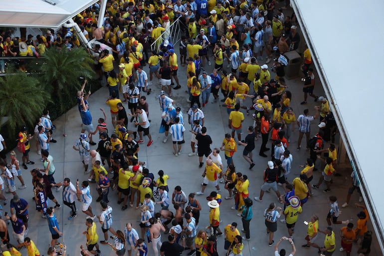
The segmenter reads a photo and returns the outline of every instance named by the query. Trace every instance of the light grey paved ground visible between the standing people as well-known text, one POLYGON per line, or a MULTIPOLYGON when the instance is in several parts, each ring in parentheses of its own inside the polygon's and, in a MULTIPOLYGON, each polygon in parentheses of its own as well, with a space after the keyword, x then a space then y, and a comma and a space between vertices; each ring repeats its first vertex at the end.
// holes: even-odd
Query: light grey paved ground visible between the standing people
MULTIPOLYGON (((178 51, 177 51, 178 52, 178 51)), ((263 64, 263 61, 260 61, 260 64, 263 64)), ((148 72, 148 66, 144 68, 145 71, 148 72)), ((207 71, 211 72, 211 67, 207 67, 207 71)), ((186 112, 189 109, 189 104, 186 101, 187 94, 185 93, 186 89, 186 80, 187 77, 184 75, 186 73, 186 67, 179 67, 179 79, 180 84, 183 86, 180 90, 174 90, 173 91, 173 99, 175 100, 175 107, 180 106, 182 108, 182 111, 184 113, 184 118, 187 120, 188 115, 186 112)), ((272 77, 274 77, 274 74, 272 74, 272 77)), ((307 105, 302 106, 300 105, 300 102, 303 100, 303 93, 302 93, 302 82, 300 79, 294 79, 294 80, 288 80, 287 81, 289 88, 293 94, 292 100, 291 100, 291 106, 293 107, 293 110, 298 117, 299 114, 303 112, 304 108, 309 108, 311 113, 314 113, 313 107, 315 106, 315 102, 313 102, 313 99, 309 98, 309 102, 307 105)), ((190 142, 190 135, 188 132, 186 133, 186 144, 183 145, 183 154, 181 156, 175 157, 173 155, 173 148, 172 148, 172 141, 171 139, 164 144, 162 142, 163 140, 163 134, 159 134, 159 125, 161 120, 161 111, 159 109, 159 103, 157 100, 158 93, 160 91, 159 86, 157 84, 157 80, 154 81, 154 84, 152 87, 152 93, 151 95, 147 96, 147 101, 149 103, 149 112, 150 112, 150 119, 152 119, 150 132, 152 134, 154 143, 150 147, 146 147, 146 144, 148 142, 148 138, 146 138, 145 144, 140 145, 140 152, 139 152, 139 158, 141 161, 147 161, 148 162, 148 168, 152 173, 155 174, 155 177, 157 178, 157 172, 162 169, 166 174, 170 176, 169 179, 169 187, 170 192, 173 191, 173 188, 177 185, 181 185, 183 191, 188 195, 191 192, 196 192, 200 190, 200 183, 202 182, 201 173, 203 169, 198 168, 198 160, 197 157, 189 157, 188 153, 191 152, 191 148, 189 146, 190 142)), ((73 92, 73 96, 75 97, 75 93, 73 92)), ((319 80, 316 82, 315 87, 315 93, 316 95, 322 95, 322 87, 320 85, 319 80)), ((108 114, 109 109, 108 106, 104 103, 105 100, 108 98, 108 89, 106 87, 102 87, 100 90, 93 92, 92 95, 89 98, 89 105, 90 105, 90 111, 92 113, 93 117, 93 124, 96 125, 97 119, 99 117, 102 117, 102 113, 99 110, 100 107, 104 108, 107 115, 108 115, 108 129, 109 131, 113 131, 110 116, 108 114)), ((220 99, 222 99, 222 96, 220 95, 220 99)), ((248 99, 249 100, 249 99, 248 99)), ((219 147, 221 145, 221 142, 224 138, 224 134, 230 132, 227 122, 228 122, 228 115, 225 111, 225 108, 221 107, 220 103, 212 104, 210 103, 211 100, 209 100, 209 103, 205 108, 203 108, 203 112, 205 114, 205 126, 207 127, 207 133, 212 137, 213 140, 213 147, 219 147)), ((250 104, 250 100, 247 102, 250 104)), ((245 121, 243 124, 243 127, 247 127, 248 125, 252 125, 253 121, 250 118, 250 116, 245 115, 245 121)), ((72 149, 72 145, 75 143, 76 139, 79 137, 80 130, 81 130, 81 120, 80 116, 77 110, 77 107, 73 107, 71 110, 69 110, 66 114, 58 118, 54 121, 54 124, 56 125, 56 130, 54 131, 54 138, 57 140, 56 144, 52 144, 50 146, 50 153, 54 157, 54 164, 56 167, 56 173, 55 173, 55 180, 60 181, 64 177, 69 177, 71 181, 74 183, 76 179, 78 178, 80 181, 86 180, 87 175, 83 174, 83 166, 79 160, 78 152, 74 151, 72 149), (66 134, 66 137, 63 137, 63 134, 66 134)), ((317 132, 317 124, 313 122, 312 124, 312 131, 317 132)), ((134 129, 134 126, 132 123, 129 124, 129 128, 134 129)), ((187 128, 187 130, 189 130, 187 128)), ((245 134, 243 135, 243 137, 245 134)), ((300 152, 296 152, 296 143, 297 143, 297 137, 298 137, 298 131, 297 127, 295 129, 295 132, 292 135, 291 143, 289 146, 289 149, 291 149, 291 153, 293 155, 293 168, 292 173, 294 175, 298 175, 300 173, 301 168, 299 168, 299 165, 302 165, 305 163, 305 159, 308 157, 309 152, 306 152, 304 149, 302 149, 300 152)), ((242 172, 243 174, 246 174, 248 176, 248 179, 250 180, 250 186, 249 186, 249 196, 253 199, 255 196, 258 196, 260 191, 260 186, 262 184, 262 173, 263 170, 266 168, 267 160, 266 158, 259 157, 257 152, 260 148, 261 139, 256 141, 256 148, 254 150, 254 163, 256 166, 252 170, 248 170, 249 165, 245 162, 245 160, 242 158, 242 146, 238 146, 238 151, 234 155, 234 163, 236 166, 237 172, 242 172)), ((304 143, 304 142, 303 142, 304 143)), ((327 146, 327 145, 326 145, 327 146)), ((303 146, 305 148, 305 146, 303 146)), ((95 149, 96 146, 92 146, 92 149, 95 149)), ((30 153, 30 159, 32 161, 35 161, 36 164, 34 166, 29 165, 28 170, 23 170, 23 178, 28 186, 25 190, 18 190, 17 193, 21 198, 24 198, 27 200, 30 204, 29 207, 29 233, 28 237, 30 237, 37 245, 38 249, 40 250, 40 255, 46 254, 46 250, 48 248, 48 245, 50 243, 50 233, 48 231, 46 220, 41 219, 40 215, 37 214, 36 211, 34 211, 34 201, 32 201, 32 186, 31 186, 31 176, 29 174, 29 171, 35 167, 35 168, 41 168, 41 163, 39 162, 39 156, 36 154, 36 151, 34 150, 34 142, 32 143, 32 149, 30 153)), ((222 152, 220 152, 220 155, 222 158, 224 158, 224 155, 222 152)), ((19 160, 21 160, 21 156, 18 156, 19 160)), ((8 158, 9 159, 9 158, 8 158)), ((319 163, 318 163, 319 164, 319 163)), ((321 169, 321 167, 318 167, 321 169)), ((344 169, 343 169, 344 170, 344 169)), ((304 237, 306 235, 306 228, 303 224, 303 221, 309 220, 310 217, 313 214, 316 214, 320 217, 319 220, 319 226, 320 228, 324 229, 327 226, 326 223, 326 216, 327 212, 329 211, 329 204, 328 204, 328 197, 330 195, 336 195, 339 198, 339 205, 342 205, 345 202, 346 194, 347 194, 347 188, 350 184, 350 179, 348 178, 350 175, 350 169, 345 169, 346 171, 341 171, 343 177, 335 177, 334 178, 334 184, 332 186, 332 192, 329 193, 323 193, 322 190, 315 190, 315 195, 311 197, 308 201, 308 203, 303 208, 303 213, 299 216, 299 220, 297 222, 297 225, 295 227, 295 234, 294 234, 294 242, 297 246, 297 255, 300 256, 309 256, 309 255, 316 255, 317 249, 310 248, 310 249, 303 249, 301 247, 302 244, 305 243, 304 237)), ((314 174, 314 182, 318 181, 320 172, 316 172, 314 174)), ((19 185, 19 182, 16 181, 17 186, 19 185)), ((324 186, 324 185, 323 185, 324 186)), ((224 190, 222 184, 220 184, 221 188, 221 196, 224 198, 227 196, 227 191, 224 190)), ((206 189, 205 194, 209 194, 210 191, 212 191, 214 188, 211 185, 208 185, 206 189)), ((323 188, 324 189, 324 188, 323 188)), ((280 193, 283 193, 283 189, 279 187, 280 193)), ((59 200, 60 204, 62 202, 62 196, 61 192, 53 192, 56 198, 59 200)), ((97 198, 97 193, 95 191, 95 184, 91 184, 91 193, 95 198, 97 198)), ((117 191, 111 191, 109 194, 110 198, 110 206, 114 209, 113 212, 113 228, 115 230, 122 230, 124 231, 125 224, 128 222, 132 222, 134 228, 140 230, 138 220, 140 218, 140 211, 135 210, 135 208, 128 208, 128 210, 122 212, 120 209, 121 207, 117 205, 117 191)), ((6 196, 10 199, 11 195, 6 194, 6 196)), ((206 205, 206 200, 204 196, 196 196, 197 199, 200 201, 200 204, 202 206, 202 211, 200 214, 200 225, 199 227, 205 227, 208 225, 208 206, 206 205)), ((357 193, 355 193, 352 196, 351 205, 358 202, 359 196, 357 193)), ((265 225, 264 225, 264 218, 263 218, 263 212, 265 208, 268 207, 268 205, 274 202, 277 205, 279 205, 277 198, 274 193, 266 193, 263 202, 254 202, 252 211, 253 211, 253 219, 251 221, 251 240, 244 242, 244 250, 243 255, 244 256, 255 256, 255 255, 272 255, 273 254, 273 247, 268 247, 268 236, 266 236, 265 231, 265 225)), ((51 206, 53 206, 51 204, 51 206)), ((227 224, 232 223, 233 221, 236 221, 239 226, 239 230, 241 230, 241 219, 236 216, 235 211, 231 210, 230 208, 233 206, 232 200, 223 200, 221 207, 220 207, 220 219, 222 220, 222 224, 220 227, 224 227, 227 224)), ((4 212, 9 212, 9 205, 4 207, 4 212)), ((63 242, 67 244, 68 249, 68 256, 77 256, 79 255, 79 248, 81 244, 85 244, 86 239, 85 236, 82 235, 82 232, 86 230, 85 227, 85 215, 81 212, 81 204, 77 203, 78 215, 77 218, 73 221, 69 221, 67 217, 69 216, 70 209, 66 206, 62 206, 60 209, 56 210, 56 216, 58 217, 58 220, 60 222, 60 230, 64 233, 63 235, 63 242)), ((99 214, 101 212, 101 207, 99 203, 96 203, 95 200, 92 203, 93 212, 95 214, 99 214)), ((173 210, 173 207, 170 207, 171 210, 173 210)), ((156 210, 159 211, 159 206, 156 207, 156 210)), ((354 218, 356 224, 356 214, 359 212, 358 209, 354 207, 349 207, 346 209, 342 209, 343 213, 339 217, 341 220, 348 220, 351 218, 354 218)), ((97 220, 97 219, 95 219, 97 220)), ((98 226, 98 235, 99 240, 103 239, 103 234, 101 232, 100 225, 98 226)), ((335 233, 336 233, 336 240, 337 240, 337 249, 334 253, 334 256, 340 256, 343 255, 343 253, 339 252, 340 248, 340 236, 339 236, 339 230, 342 226, 334 226, 335 233)), ((8 226, 9 229, 11 229, 11 226, 8 226)), ((370 228, 372 230, 372 228, 370 228)), ((278 231, 275 233, 275 241, 278 241, 279 238, 282 236, 287 236, 287 228, 284 224, 281 224, 278 222, 278 231)), ((242 234, 243 235, 243 234, 242 234)), ((167 236, 163 235, 162 238, 163 241, 167 240, 167 236)), ((218 238, 218 252, 219 255, 224 255, 223 250, 223 237, 218 238)), ((324 241, 324 235, 320 234, 320 238, 317 240, 319 244, 322 244, 324 241)), ((14 239, 11 239, 11 242, 14 242, 14 239)), ((149 244, 149 255, 153 255, 152 245, 149 244)), ((280 248, 285 248, 287 252, 290 252, 290 245, 288 243, 283 243, 280 248)), ((373 251, 371 255, 380 255, 380 249, 377 244, 377 241, 373 243, 373 251)), ((100 250, 102 252, 102 255, 114 255, 114 252, 112 252, 111 248, 109 246, 100 245, 100 250)), ((353 249, 353 255, 356 254, 357 245, 354 245, 353 249)), ((22 253, 26 254, 25 249, 22 249, 22 253)), ((187 253, 184 253, 186 255, 187 253)))

